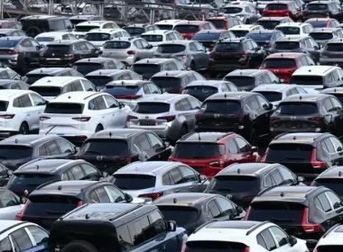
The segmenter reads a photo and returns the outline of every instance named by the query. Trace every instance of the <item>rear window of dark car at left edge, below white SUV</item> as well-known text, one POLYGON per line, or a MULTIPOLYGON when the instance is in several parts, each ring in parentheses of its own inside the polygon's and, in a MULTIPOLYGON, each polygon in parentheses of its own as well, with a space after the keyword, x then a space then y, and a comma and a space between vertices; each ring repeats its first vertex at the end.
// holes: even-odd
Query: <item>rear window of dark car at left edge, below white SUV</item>
POLYGON ((0 145, 0 159, 22 159, 31 156, 31 147, 22 145, 0 145))

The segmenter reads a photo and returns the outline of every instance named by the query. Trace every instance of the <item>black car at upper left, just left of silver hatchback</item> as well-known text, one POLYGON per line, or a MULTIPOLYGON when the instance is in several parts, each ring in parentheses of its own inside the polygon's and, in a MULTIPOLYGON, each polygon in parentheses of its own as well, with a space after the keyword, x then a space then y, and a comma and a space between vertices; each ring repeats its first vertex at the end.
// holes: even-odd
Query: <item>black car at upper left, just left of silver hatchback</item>
POLYGON ((56 40, 40 54, 41 67, 71 67, 81 58, 97 58, 101 50, 86 40, 56 40))

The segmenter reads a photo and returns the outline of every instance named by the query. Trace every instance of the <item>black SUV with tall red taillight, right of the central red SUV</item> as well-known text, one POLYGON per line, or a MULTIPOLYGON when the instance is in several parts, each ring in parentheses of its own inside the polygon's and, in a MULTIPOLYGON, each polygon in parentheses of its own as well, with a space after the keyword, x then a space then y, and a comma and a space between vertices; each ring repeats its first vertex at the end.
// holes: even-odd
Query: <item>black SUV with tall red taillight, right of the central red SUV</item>
POLYGON ((282 164, 310 184, 330 166, 343 165, 342 150, 329 133, 283 133, 272 140, 261 162, 282 164))

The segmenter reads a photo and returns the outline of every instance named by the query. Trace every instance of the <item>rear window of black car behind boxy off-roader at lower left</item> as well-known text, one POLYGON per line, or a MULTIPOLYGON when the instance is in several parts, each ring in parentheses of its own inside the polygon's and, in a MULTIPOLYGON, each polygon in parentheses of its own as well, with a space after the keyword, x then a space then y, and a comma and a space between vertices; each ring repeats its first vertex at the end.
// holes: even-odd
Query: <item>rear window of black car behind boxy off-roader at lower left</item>
POLYGON ((29 197, 25 215, 27 216, 57 216, 78 207, 78 198, 64 195, 34 195, 29 197))

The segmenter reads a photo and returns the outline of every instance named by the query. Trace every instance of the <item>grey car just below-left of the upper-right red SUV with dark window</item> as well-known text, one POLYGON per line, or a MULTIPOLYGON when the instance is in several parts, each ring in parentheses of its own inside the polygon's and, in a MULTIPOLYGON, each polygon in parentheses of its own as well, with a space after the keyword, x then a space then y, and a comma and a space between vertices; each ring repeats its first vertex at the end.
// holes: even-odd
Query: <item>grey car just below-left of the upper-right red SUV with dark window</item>
POLYGON ((242 91, 251 91, 258 85, 280 83, 280 79, 266 69, 237 69, 224 76, 223 80, 232 82, 242 91))

